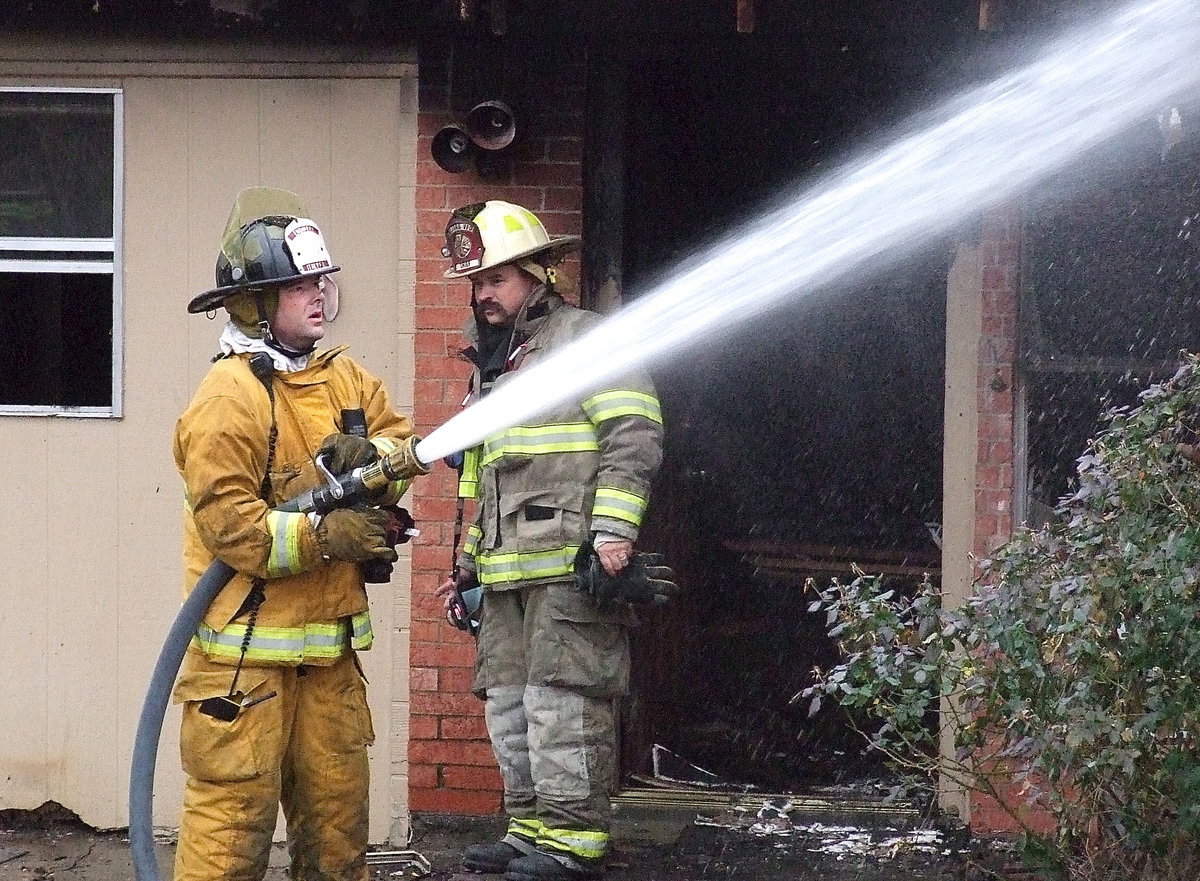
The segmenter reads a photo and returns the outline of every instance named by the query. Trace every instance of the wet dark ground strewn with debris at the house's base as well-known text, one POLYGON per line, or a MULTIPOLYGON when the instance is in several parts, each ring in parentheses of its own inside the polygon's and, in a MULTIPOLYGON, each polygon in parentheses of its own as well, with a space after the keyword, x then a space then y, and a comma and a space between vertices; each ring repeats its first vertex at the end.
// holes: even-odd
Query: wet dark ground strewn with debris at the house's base
MULTIPOLYGON (((776 805, 779 807, 779 805, 776 805)), ((787 808, 788 805, 784 805, 787 808)), ((56 805, 54 805, 56 808, 56 805)), ((972 881, 1015 877, 961 834, 913 829, 911 819, 835 816, 802 807, 768 811, 694 807, 617 807, 611 881, 972 881), (988 868, 990 867, 990 868, 988 868)), ((492 881, 460 868, 462 849, 503 834, 499 819, 420 815, 407 851, 368 855, 372 881, 492 881), (425 862, 428 871, 424 870, 425 862)), ((157 845, 158 874, 170 879, 173 841, 157 845)), ((1001 861, 1003 863, 1004 861, 1001 861)), ((97 832, 61 808, 0 811, 0 881, 127 881, 134 877, 125 831, 97 832)), ((276 845, 266 881, 286 881, 276 845)))

